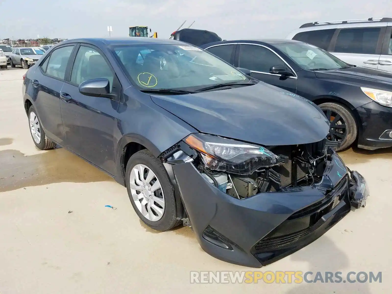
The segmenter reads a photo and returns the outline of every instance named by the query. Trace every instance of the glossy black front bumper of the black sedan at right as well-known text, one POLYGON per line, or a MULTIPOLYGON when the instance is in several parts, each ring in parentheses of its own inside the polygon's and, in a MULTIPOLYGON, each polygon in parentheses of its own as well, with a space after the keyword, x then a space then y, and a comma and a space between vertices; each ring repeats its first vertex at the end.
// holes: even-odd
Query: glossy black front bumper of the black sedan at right
POLYGON ((379 149, 392 147, 392 108, 372 101, 357 108, 361 125, 359 128, 358 147, 379 149))

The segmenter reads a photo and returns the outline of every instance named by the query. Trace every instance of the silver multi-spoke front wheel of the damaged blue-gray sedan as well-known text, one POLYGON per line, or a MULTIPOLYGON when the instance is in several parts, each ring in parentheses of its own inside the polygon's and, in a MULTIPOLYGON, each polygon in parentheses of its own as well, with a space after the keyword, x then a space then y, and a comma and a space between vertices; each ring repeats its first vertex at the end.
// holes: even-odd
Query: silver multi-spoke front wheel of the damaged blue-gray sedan
POLYGON ((129 187, 140 213, 149 221, 160 220, 165 211, 165 198, 154 172, 143 164, 135 165, 130 174, 129 187))

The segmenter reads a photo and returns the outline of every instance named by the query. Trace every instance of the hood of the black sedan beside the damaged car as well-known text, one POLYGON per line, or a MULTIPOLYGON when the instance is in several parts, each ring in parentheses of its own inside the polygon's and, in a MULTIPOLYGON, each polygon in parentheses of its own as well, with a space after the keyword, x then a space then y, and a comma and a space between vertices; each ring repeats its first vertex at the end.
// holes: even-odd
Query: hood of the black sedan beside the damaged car
POLYGON ((391 90, 392 73, 371 69, 368 67, 352 67, 336 71, 315 71, 316 77, 321 80, 330 80, 358 87, 369 87, 382 90, 391 90))

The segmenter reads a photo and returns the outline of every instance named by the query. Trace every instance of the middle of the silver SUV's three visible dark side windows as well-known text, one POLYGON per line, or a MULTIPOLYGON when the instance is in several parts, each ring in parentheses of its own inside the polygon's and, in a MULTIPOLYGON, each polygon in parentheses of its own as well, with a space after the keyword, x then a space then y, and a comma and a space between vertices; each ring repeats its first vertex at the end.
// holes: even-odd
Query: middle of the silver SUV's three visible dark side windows
POLYGON ((379 27, 342 29, 336 39, 335 52, 376 54, 379 27))

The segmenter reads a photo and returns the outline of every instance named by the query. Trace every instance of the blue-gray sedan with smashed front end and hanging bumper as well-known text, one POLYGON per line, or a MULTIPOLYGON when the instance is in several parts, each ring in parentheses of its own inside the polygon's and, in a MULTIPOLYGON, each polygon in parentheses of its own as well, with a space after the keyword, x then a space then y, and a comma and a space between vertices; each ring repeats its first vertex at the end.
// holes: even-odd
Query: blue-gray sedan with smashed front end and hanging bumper
POLYGON ((61 145, 113 176, 149 227, 191 225, 206 252, 250 267, 365 205, 365 180, 325 139, 314 103, 192 45, 135 39, 67 40, 27 71, 36 147, 61 145))

